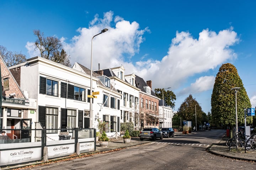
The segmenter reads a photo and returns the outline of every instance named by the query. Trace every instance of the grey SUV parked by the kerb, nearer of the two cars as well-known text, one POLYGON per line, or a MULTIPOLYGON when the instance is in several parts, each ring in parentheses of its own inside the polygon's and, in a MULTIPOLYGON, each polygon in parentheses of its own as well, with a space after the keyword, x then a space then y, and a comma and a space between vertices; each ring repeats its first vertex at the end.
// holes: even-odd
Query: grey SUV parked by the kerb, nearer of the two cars
POLYGON ((156 138, 163 139, 164 135, 157 128, 144 128, 142 131, 140 131, 139 137, 141 141, 144 139, 151 139, 154 141, 156 138))

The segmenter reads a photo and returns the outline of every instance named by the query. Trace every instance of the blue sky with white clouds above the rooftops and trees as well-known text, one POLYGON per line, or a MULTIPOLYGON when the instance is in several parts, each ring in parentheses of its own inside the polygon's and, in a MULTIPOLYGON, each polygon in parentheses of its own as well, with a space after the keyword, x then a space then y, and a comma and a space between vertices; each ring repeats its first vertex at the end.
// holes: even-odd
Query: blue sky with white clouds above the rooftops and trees
POLYGON ((214 79, 232 63, 256 106, 256 1, 0 1, 0 45, 37 56, 34 29, 63 41, 70 61, 93 69, 118 67, 153 89, 172 87, 176 107, 192 94, 210 111, 214 79))

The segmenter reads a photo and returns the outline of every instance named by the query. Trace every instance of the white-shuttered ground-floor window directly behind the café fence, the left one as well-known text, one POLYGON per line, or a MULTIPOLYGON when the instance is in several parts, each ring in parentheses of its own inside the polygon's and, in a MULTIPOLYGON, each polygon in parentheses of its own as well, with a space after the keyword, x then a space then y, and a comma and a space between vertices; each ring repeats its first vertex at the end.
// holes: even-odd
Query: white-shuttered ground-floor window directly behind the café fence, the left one
POLYGON ((47 133, 57 133, 58 108, 46 107, 46 129, 47 133))

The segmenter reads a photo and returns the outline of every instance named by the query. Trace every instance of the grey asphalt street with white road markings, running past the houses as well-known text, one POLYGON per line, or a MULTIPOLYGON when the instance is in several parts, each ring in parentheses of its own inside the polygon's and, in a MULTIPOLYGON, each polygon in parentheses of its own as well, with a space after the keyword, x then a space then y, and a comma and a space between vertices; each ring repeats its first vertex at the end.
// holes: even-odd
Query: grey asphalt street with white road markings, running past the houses
POLYGON ((218 143, 225 131, 198 131, 121 151, 97 154, 65 162, 41 165, 33 170, 226 170, 256 169, 256 163, 220 157, 206 152, 208 145, 218 143))

